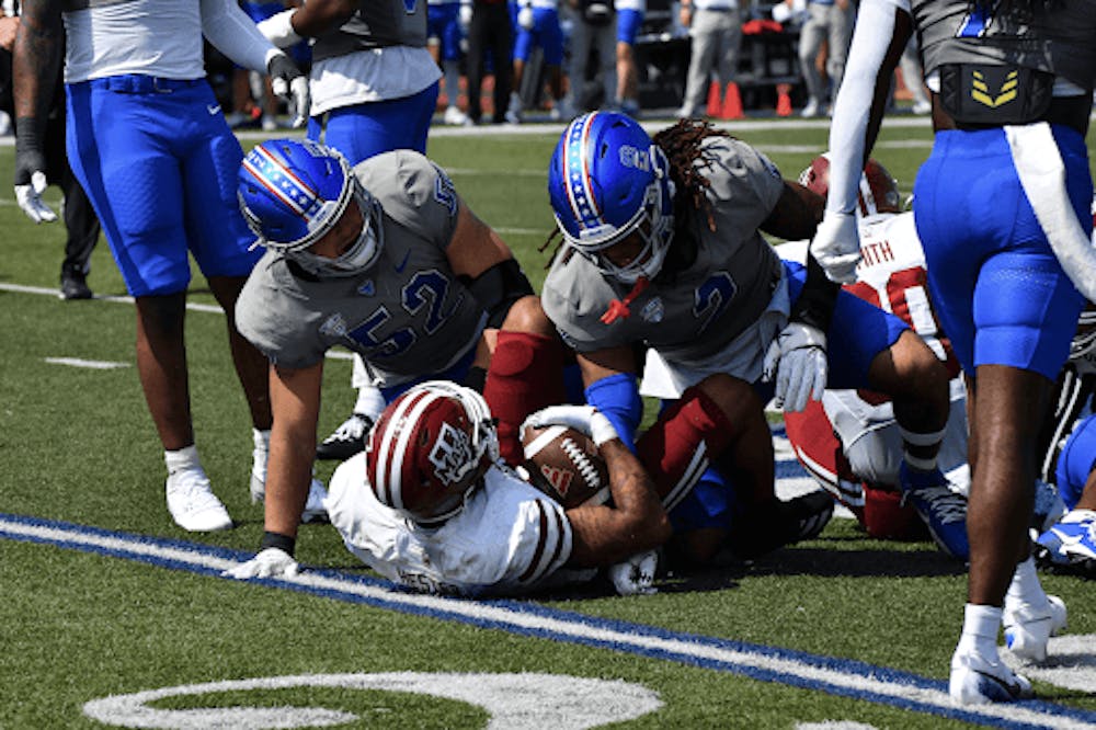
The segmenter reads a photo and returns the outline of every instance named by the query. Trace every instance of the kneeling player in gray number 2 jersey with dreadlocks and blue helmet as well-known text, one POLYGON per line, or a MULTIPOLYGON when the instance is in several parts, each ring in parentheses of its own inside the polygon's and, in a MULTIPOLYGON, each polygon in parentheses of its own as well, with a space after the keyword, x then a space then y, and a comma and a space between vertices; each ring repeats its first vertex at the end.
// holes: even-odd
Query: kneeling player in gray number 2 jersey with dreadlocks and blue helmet
MULTIPOLYGON (((902 320, 838 293, 813 261, 806 271, 781 263, 762 236, 810 238, 821 197, 708 125, 683 121, 652 141, 613 113, 568 126, 548 184, 564 244, 544 309, 578 353, 587 401, 626 443, 642 412, 639 346, 644 395, 672 401, 726 373, 751 386, 743 419, 764 420, 774 393, 786 410, 802 410, 827 379, 884 392, 902 430, 903 469, 944 483, 944 365, 902 320)), ((693 536, 694 559, 727 539, 740 556, 765 552, 829 520, 832 500, 821 492, 776 499, 770 441, 715 467, 671 513, 675 529, 693 536)))

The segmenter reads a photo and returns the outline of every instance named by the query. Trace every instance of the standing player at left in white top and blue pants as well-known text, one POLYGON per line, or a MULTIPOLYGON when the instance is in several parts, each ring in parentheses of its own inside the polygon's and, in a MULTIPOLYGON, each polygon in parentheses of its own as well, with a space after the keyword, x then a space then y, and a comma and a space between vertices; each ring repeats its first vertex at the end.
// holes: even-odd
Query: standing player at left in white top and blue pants
POLYGON ((187 254, 228 313, 254 426, 253 483, 265 476, 271 424, 265 363, 233 318, 259 258, 229 182, 243 151, 206 82, 203 35, 236 64, 270 73, 275 91, 307 104, 300 71, 235 0, 28 2, 13 58, 15 195, 41 220, 53 215, 39 197, 42 135, 66 42, 69 164, 136 300, 137 368, 164 449, 168 509, 176 524, 196 532, 227 529, 232 520, 194 445, 183 337, 187 254))

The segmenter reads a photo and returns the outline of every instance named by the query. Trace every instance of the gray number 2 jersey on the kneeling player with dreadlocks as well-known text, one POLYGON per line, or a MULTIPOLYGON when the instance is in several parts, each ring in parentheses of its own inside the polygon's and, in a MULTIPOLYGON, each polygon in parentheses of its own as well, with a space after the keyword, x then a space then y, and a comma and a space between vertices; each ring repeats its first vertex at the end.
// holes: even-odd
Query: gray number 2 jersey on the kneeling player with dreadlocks
POLYGON ((671 247, 687 246, 684 239, 692 238, 696 258, 681 271, 661 272, 629 306, 630 317, 601 321, 628 286, 605 278, 571 251, 561 251, 552 264, 541 294, 544 308, 578 352, 642 342, 669 361, 697 362, 727 346, 765 310, 781 264, 757 227, 776 207, 784 180, 743 141, 709 137, 704 144, 716 160, 710 167, 698 163, 710 182, 707 196, 716 230, 708 228, 705 210, 677 223, 671 247))

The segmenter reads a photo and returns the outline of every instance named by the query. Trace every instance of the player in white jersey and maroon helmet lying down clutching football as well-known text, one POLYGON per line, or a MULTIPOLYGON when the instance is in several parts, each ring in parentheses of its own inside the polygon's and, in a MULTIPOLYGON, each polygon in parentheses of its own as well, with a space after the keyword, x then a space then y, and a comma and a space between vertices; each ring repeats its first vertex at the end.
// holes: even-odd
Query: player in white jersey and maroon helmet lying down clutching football
MULTIPOLYGON (((589 580, 608 567, 621 594, 648 593, 671 536, 666 510, 726 450, 769 438, 735 417, 744 384, 717 374, 689 388, 636 445, 633 456, 591 407, 553 406, 529 425, 579 429, 608 469, 608 494, 564 509, 498 458, 494 422, 469 388, 418 385, 372 431, 365 454, 344 461, 327 500, 331 523, 355 556, 418 591, 524 593, 589 580)), ((242 577, 292 573, 292 546, 269 545, 242 577)))

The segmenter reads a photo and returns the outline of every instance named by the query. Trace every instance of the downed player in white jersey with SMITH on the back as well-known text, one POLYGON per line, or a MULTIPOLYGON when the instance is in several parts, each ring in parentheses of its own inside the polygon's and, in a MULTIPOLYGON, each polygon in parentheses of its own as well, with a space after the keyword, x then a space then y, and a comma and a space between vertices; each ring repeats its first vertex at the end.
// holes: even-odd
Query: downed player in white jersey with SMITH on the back
MULTIPOLYGON (((830 160, 815 158, 799 182, 825 197, 830 160)), ((845 290, 901 317, 946 364, 951 408, 937 457, 941 471, 954 474, 966 490, 966 390, 959 363, 940 332, 925 288, 925 256, 913 227, 913 215, 901 213, 898 185, 890 173, 869 160, 857 203, 864 256, 857 281, 845 290)), ((806 261, 808 241, 777 247, 781 258, 806 261)), ((943 550, 967 559, 967 501, 947 484, 903 491, 899 470, 902 436, 890 399, 878 392, 827 388, 822 400, 798 413, 785 414, 788 440, 797 458, 815 480, 847 506, 869 535, 915 539, 921 522, 943 550), (920 515, 920 521, 918 521, 920 515), (911 520, 912 517, 912 520, 911 520)))

